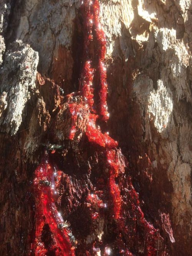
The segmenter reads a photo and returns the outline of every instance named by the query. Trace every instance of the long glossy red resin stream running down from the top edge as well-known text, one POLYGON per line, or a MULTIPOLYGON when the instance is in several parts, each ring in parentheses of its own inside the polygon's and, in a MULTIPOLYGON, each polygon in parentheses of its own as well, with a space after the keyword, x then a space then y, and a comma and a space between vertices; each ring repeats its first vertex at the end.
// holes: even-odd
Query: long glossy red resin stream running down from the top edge
MULTIPOLYGON (((104 31, 101 27, 101 24, 99 22, 99 1, 95 0, 93 1, 93 15, 91 15, 91 9, 90 9, 90 2, 91 1, 85 1, 84 6, 85 10, 89 10, 89 12, 86 15, 86 26, 89 26, 89 28, 85 28, 86 32, 89 32, 88 35, 91 37, 90 40, 92 40, 93 36, 91 33, 91 29, 93 28, 94 23, 94 29, 96 32, 96 39, 99 42, 99 48, 98 48, 98 73, 99 73, 99 79, 100 79, 100 91, 98 92, 99 98, 100 98, 100 107, 98 115, 95 115, 94 113, 91 113, 92 106, 94 104, 93 102, 93 88, 91 88, 88 85, 93 84, 93 71, 90 66, 90 62, 86 62, 84 69, 83 69, 83 83, 81 84, 80 88, 82 88, 82 95, 84 96, 84 100, 89 104, 89 122, 86 127, 86 136, 88 138, 88 141, 90 143, 93 143, 96 146, 100 146, 101 150, 104 155, 106 155, 106 165, 108 166, 108 186, 109 186, 109 193, 111 196, 111 201, 113 204, 113 218, 116 219, 119 222, 119 232, 123 233, 126 231, 127 226, 124 223, 124 216, 121 209, 122 204, 122 197, 121 197, 121 190, 119 188, 119 185, 116 184, 116 178, 118 178, 119 174, 122 175, 124 173, 125 166, 122 165, 121 161, 119 161, 117 156, 117 149, 118 142, 114 141, 108 133, 102 133, 99 126, 96 125, 96 120, 101 117, 101 120, 107 120, 109 118, 108 113, 108 107, 106 103, 107 99, 107 91, 108 91, 108 85, 106 82, 106 67, 104 65, 104 58, 106 55, 106 37, 104 34, 104 31), (89 8, 88 8, 89 6, 89 8), (93 18, 93 22, 92 22, 93 18), (88 19, 90 19, 90 22, 88 22, 88 19), (88 65, 89 64, 89 65, 88 65), (85 68, 86 67, 86 68, 85 68), (89 75, 88 75, 89 74, 89 75), (86 82, 84 82, 86 81, 86 82), (86 99, 85 99, 86 98, 86 99), (90 99, 90 100, 89 100, 90 99), (90 103, 89 103, 90 102, 90 103)), ((86 38, 88 38, 88 35, 86 38)), ((89 44, 89 40, 85 40, 89 44)), ((88 45, 85 47, 86 52, 88 53, 88 45)), ((88 56, 84 56, 85 59, 88 58, 88 56)), ((74 115, 75 116, 75 115, 74 115)), ((156 255, 157 249, 156 244, 159 241, 159 233, 158 231, 146 221, 144 218, 144 213, 141 210, 138 194, 134 190, 131 180, 127 181, 127 185, 129 186, 129 204, 130 204, 130 214, 133 216, 132 218, 132 231, 136 231, 136 222, 139 222, 142 228, 145 232, 145 240, 146 240, 146 248, 145 248, 145 255, 156 255), (134 217, 135 216, 135 217, 134 217), (134 224, 135 223, 135 224, 134 224)), ((92 204, 93 201, 96 200, 96 196, 92 194, 92 204)), ((90 196, 89 196, 90 201, 90 196)), ((92 204, 90 204, 90 209, 92 209, 92 204)), ((94 220, 98 218, 99 214, 97 212, 93 212, 91 214, 91 218, 94 220)), ((130 225, 131 227, 131 225, 130 225)), ((130 232, 127 230, 127 234, 130 232)), ((134 237, 132 237, 134 239, 134 237)), ((107 248, 107 247, 106 247, 107 248)), ((103 255, 109 255, 109 250, 106 249, 106 252, 104 251, 103 255)), ((121 255, 133 255, 128 248, 122 249, 120 251, 121 255)))

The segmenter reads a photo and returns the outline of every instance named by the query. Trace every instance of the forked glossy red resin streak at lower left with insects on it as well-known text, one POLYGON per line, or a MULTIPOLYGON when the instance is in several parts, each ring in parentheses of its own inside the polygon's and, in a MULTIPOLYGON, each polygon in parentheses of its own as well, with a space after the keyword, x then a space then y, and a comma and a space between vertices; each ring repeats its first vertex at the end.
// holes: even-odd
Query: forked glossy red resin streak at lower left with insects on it
MULTIPOLYGON (((36 233, 35 244, 33 245, 35 255, 46 255, 47 250, 41 242, 41 235, 45 223, 49 225, 56 245, 60 250, 57 255, 74 256, 74 245, 71 242, 68 228, 59 228, 64 223, 61 214, 58 212, 55 201, 57 191, 55 188, 56 166, 52 166, 48 157, 45 157, 35 170, 34 190, 36 195, 36 233), (45 185, 49 183, 50 185, 45 185)), ((54 245, 53 245, 54 247, 54 245)))

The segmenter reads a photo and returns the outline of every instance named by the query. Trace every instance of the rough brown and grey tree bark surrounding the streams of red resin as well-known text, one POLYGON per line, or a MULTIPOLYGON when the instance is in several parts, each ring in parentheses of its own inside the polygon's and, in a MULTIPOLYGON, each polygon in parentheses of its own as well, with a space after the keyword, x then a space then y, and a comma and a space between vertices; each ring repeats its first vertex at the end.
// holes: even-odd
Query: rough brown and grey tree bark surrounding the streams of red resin
MULTIPOLYGON (((129 201, 134 191, 130 179, 125 178, 131 176, 139 192, 140 208, 147 221, 159 228, 168 254, 191 255, 192 5, 187 0, 101 0, 100 4, 100 22, 107 41, 110 112, 107 130, 129 159, 129 169, 115 178, 121 191, 128 191, 121 193, 121 214, 130 220, 123 238, 120 237, 122 246, 129 243, 129 251, 137 255, 138 249, 138 255, 145 255, 146 244, 142 242, 145 232, 140 236, 137 219, 136 223, 131 222, 135 214, 127 214, 131 213, 132 204, 123 203, 129 201), (172 233, 175 243, 169 242, 174 241, 172 233), (138 246, 136 241, 140 242, 138 246)), ((77 118, 78 134, 73 141, 68 140, 71 128, 68 105, 80 102, 80 98, 73 94, 63 99, 62 94, 63 90, 65 94, 76 91, 79 86, 83 52, 80 5, 79 0, 0 2, 2 255, 28 255, 30 252, 35 234, 30 182, 45 141, 62 145, 60 150, 50 154, 50 160, 57 158, 60 162, 55 184, 57 207, 62 216, 67 216, 79 241, 76 254, 86 255, 93 249, 92 255, 118 255, 115 239, 118 239, 119 228, 106 210, 110 204, 105 203, 109 200, 106 188, 109 188, 110 166, 102 168, 101 163, 106 163, 106 159, 101 150, 96 146, 93 151, 93 145, 84 136, 90 115, 88 108, 81 108, 83 120, 77 118), (18 47, 17 40, 22 40, 23 48, 18 47), (41 74, 36 84, 31 82, 36 76, 37 53, 34 51, 39 55, 38 72, 41 74), (29 70, 24 64, 23 71, 13 66, 27 59, 30 65, 25 65, 29 70), (10 76, 3 80, 5 85, 2 79, 6 70, 10 76), (19 76, 23 75, 26 80, 20 83, 19 76), (2 90, 5 87, 8 90, 2 90), (15 89, 17 97, 14 97, 15 89), (18 95, 22 95, 22 101, 18 100, 18 95), (11 103, 11 98, 21 104, 19 110, 11 103), (6 124, 7 113, 10 119, 6 124), (101 240, 107 244, 105 248, 101 240), (93 241, 97 242, 93 244, 93 241)), ((89 50, 96 60, 94 49, 98 50, 98 45, 92 42, 89 50)), ((99 125, 104 131, 105 126, 99 125)), ((122 153, 117 154, 118 161, 124 165, 122 153)), ((139 214, 139 208, 136 210, 139 214)), ((140 219, 142 214, 138 216, 140 219)), ((46 224, 41 239, 50 250, 53 238, 46 224)), ((161 242, 158 246, 164 247, 161 242)), ((55 251, 56 248, 50 253, 55 251)))

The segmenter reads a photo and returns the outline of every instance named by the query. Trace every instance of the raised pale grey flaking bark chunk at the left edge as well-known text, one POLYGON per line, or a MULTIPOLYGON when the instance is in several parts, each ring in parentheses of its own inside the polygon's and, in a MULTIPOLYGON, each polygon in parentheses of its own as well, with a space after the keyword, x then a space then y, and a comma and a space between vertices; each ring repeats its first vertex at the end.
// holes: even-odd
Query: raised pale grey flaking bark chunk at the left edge
POLYGON ((38 53, 22 41, 16 41, 12 51, 6 53, 1 70, 0 88, 3 108, 0 114, 1 131, 15 135, 22 123, 23 110, 35 88, 38 53), (4 101, 4 102, 3 102, 4 101))

